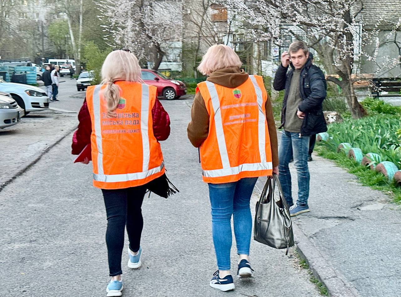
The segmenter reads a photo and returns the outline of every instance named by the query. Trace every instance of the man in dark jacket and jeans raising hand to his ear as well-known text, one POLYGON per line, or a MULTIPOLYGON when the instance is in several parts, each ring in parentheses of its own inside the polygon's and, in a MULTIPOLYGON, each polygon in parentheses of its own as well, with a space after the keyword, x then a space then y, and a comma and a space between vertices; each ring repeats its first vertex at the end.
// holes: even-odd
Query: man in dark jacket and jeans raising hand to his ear
POLYGON ((281 65, 274 77, 273 87, 276 91, 286 90, 280 126, 283 130, 279 147, 279 179, 290 214, 296 216, 309 212, 310 135, 327 131, 322 111, 322 102, 326 98, 326 81, 320 68, 312 65, 308 46, 304 42, 292 42, 288 52, 281 55, 281 65), (293 155, 298 175, 298 200, 295 204, 292 200, 288 166, 293 155))

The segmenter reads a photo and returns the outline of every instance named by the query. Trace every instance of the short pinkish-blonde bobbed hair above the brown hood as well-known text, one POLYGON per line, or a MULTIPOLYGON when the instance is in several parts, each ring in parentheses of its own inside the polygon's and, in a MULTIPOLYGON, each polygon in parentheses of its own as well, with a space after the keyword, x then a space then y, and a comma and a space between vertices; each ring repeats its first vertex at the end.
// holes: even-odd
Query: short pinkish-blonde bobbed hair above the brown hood
POLYGON ((203 56, 198 71, 205 75, 229 67, 241 67, 242 63, 233 49, 224 44, 215 44, 209 47, 203 56))

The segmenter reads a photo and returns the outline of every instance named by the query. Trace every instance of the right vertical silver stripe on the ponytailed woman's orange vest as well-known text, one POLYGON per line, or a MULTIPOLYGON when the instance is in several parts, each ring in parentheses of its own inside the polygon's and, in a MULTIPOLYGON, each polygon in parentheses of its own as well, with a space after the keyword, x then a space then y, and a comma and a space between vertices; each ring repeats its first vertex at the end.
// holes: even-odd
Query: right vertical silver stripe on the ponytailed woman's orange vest
POLYGON ((142 103, 141 103, 141 133, 142 133, 142 171, 149 169, 150 146, 149 146, 149 86, 142 84, 142 103))

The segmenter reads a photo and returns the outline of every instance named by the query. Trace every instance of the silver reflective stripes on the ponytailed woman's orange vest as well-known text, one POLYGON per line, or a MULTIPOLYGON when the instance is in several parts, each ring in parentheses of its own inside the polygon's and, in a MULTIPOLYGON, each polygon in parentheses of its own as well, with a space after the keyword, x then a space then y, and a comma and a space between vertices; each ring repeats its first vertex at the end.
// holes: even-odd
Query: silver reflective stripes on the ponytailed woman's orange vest
POLYGON ((97 151, 97 174, 93 173, 93 179, 98 182, 128 182, 131 180, 143 180, 148 176, 156 174, 163 170, 164 161, 160 166, 149 169, 150 144, 149 144, 149 86, 142 84, 142 103, 141 103, 141 135, 142 135, 142 172, 126 174, 104 174, 103 170, 103 150, 101 136, 101 112, 100 112, 100 91, 101 85, 97 85, 93 91, 93 114, 95 119, 95 135, 97 151))

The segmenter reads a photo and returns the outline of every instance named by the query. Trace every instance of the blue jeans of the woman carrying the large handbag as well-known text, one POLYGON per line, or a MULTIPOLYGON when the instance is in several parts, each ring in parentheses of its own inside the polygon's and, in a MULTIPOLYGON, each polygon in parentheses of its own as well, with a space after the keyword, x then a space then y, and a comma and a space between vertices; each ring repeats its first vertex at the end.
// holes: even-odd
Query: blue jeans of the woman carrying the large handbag
POLYGON ((256 181, 257 178, 242 178, 237 182, 209 184, 213 244, 219 270, 230 270, 231 268, 231 215, 234 219, 237 254, 249 255, 252 233, 249 201, 256 181))

